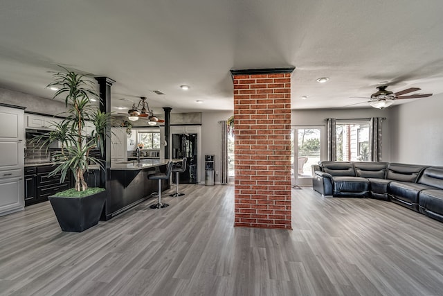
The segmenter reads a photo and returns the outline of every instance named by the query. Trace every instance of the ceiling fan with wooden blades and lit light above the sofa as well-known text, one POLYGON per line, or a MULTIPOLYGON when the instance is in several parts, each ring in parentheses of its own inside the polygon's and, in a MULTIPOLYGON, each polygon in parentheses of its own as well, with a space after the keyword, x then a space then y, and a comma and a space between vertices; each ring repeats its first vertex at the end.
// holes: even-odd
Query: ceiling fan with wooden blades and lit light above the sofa
POLYGON ((402 100, 405 98, 427 98, 428 96, 433 95, 433 94, 410 94, 408 96, 403 96, 404 94, 408 94, 410 92, 417 92, 418 90, 420 90, 420 88, 410 87, 408 89, 404 89, 400 92, 394 93, 388 91, 386 87, 388 87, 388 85, 381 85, 377 87, 378 91, 374 92, 374 94, 371 94, 370 96, 370 101, 368 101, 369 105, 371 105, 374 108, 383 109, 392 105, 392 103, 394 103, 395 100, 402 100))

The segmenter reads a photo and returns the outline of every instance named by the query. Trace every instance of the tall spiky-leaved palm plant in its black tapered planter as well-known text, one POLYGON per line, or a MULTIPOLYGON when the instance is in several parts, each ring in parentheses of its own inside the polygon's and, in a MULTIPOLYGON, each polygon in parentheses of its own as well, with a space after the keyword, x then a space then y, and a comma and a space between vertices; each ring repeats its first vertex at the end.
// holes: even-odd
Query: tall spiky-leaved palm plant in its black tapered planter
POLYGON ((58 88, 54 98, 64 98, 66 112, 62 114, 66 118, 61 123, 53 123, 53 130, 35 141, 41 142, 42 146, 55 140, 61 143, 51 175, 60 174, 60 182, 64 182, 72 173, 75 186, 48 199, 63 231, 82 232, 98 223, 105 204, 105 189, 89 188, 84 174, 91 165, 104 169, 100 159, 89 153, 98 149, 103 154, 104 139, 109 137, 106 126, 110 124, 111 116, 91 103, 92 98, 98 98, 93 80, 64 70, 54 73, 54 81, 48 87, 58 88))

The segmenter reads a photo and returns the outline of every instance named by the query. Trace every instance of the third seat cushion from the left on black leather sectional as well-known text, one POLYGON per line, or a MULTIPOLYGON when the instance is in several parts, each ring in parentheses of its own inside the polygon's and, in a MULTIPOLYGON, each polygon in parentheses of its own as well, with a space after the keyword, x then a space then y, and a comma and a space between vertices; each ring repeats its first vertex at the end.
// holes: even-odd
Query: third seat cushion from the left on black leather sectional
POLYGON ((433 189, 433 187, 411 182, 392 181, 388 186, 388 194, 393 202, 418 211, 418 194, 425 189, 433 189))

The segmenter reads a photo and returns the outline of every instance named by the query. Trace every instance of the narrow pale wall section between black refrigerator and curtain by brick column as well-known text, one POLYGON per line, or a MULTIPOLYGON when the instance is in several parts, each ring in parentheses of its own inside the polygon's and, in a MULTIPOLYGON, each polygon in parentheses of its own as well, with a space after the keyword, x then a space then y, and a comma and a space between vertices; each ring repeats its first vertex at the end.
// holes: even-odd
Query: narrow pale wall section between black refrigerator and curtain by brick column
POLYGON ((215 182, 220 182, 221 168, 221 128, 219 121, 227 120, 233 115, 232 111, 222 112, 204 112, 201 121, 201 159, 199 162, 203 164, 200 169, 201 182, 204 182, 205 176, 205 155, 215 155, 215 182))

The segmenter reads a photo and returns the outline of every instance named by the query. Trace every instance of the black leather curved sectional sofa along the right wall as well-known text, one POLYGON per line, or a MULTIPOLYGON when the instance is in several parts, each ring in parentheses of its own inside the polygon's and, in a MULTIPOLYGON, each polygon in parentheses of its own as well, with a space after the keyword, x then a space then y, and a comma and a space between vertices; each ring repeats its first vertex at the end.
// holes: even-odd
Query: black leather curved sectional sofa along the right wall
POLYGON ((390 200, 443 222, 443 167, 321 162, 312 186, 323 196, 390 200))

